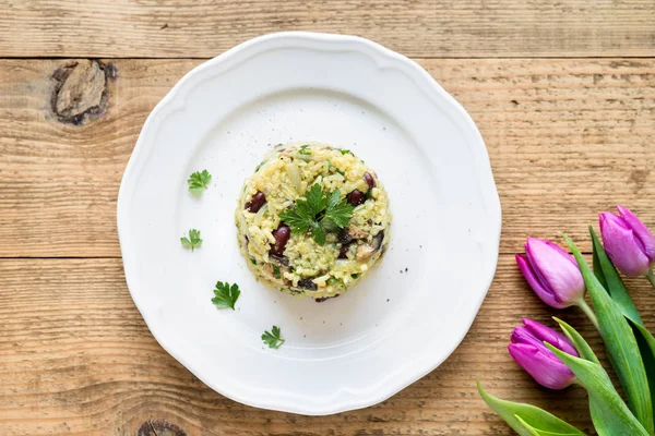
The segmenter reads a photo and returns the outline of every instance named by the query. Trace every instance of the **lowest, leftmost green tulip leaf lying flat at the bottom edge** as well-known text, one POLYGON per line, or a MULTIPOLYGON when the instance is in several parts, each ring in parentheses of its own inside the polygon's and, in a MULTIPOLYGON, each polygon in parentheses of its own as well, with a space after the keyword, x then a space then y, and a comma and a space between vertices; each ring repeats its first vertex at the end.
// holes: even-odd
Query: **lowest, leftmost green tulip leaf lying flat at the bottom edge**
POLYGON ((521 436, 584 436, 584 433, 571 424, 543 409, 496 398, 487 393, 479 382, 477 383, 477 388, 487 405, 493 409, 521 436))

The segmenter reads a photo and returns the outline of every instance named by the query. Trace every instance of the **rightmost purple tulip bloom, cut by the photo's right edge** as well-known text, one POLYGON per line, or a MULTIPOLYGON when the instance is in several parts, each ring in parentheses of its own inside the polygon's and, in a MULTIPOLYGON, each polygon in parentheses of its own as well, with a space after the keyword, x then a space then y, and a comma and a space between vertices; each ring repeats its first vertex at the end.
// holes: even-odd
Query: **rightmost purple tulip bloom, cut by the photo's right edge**
POLYGON ((648 275, 655 265, 655 237, 629 209, 617 206, 619 215, 599 215, 600 233, 607 255, 629 277, 648 275))

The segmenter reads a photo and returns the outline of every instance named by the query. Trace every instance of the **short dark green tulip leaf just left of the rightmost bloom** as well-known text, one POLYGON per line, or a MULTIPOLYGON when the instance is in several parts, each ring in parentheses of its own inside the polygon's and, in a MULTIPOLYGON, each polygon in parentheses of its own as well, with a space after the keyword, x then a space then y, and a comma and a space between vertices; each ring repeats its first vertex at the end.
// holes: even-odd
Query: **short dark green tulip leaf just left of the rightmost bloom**
POLYGON ((619 305, 623 315, 635 324, 643 326, 644 324, 641 316, 639 316, 639 311, 636 310, 628 289, 626 289, 621 276, 619 276, 617 268, 607 256, 598 235, 591 226, 590 234, 594 242, 594 274, 598 278, 598 281, 600 281, 603 288, 609 292, 611 299, 619 305), (603 279, 600 279, 599 276, 603 277, 603 279))

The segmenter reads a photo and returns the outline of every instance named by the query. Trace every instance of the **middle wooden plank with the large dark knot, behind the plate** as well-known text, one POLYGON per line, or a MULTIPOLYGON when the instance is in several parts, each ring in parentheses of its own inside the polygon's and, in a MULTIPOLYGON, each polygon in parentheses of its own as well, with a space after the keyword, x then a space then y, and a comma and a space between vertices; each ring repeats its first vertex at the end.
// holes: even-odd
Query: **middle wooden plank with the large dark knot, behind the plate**
MULTIPOLYGON (((655 59, 419 61, 487 142, 503 207, 502 253, 521 251, 528 234, 565 231, 587 241, 587 223, 616 204, 655 227, 655 59)), ((0 61, 0 257, 120 256, 116 197, 136 135, 200 63, 102 61, 105 107, 88 117, 82 109, 91 102, 71 109, 82 117, 75 125, 53 111, 52 74, 79 63, 98 81, 85 62, 0 61)), ((90 101, 98 92, 79 87, 90 101)))

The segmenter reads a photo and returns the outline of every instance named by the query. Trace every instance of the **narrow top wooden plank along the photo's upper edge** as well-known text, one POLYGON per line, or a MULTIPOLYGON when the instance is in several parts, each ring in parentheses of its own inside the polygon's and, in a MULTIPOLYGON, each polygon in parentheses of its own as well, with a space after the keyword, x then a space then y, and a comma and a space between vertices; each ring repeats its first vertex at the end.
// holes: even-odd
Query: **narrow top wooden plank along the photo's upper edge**
POLYGON ((413 57, 642 57, 651 0, 0 2, 0 57, 211 58, 281 31, 358 34, 413 57))

